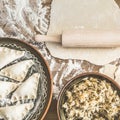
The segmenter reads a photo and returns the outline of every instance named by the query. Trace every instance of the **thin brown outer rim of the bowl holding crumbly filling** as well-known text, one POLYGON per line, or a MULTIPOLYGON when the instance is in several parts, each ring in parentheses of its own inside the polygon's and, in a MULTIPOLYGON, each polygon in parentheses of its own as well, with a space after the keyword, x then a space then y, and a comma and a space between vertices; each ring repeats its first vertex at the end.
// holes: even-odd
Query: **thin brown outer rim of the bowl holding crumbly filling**
POLYGON ((89 75, 95 75, 95 76, 103 77, 106 80, 110 81, 112 84, 114 84, 118 88, 118 90, 120 90, 120 85, 114 79, 112 79, 111 77, 109 77, 109 76, 107 76, 105 74, 102 74, 102 73, 99 73, 99 72, 85 72, 85 73, 81 73, 81 74, 77 75, 76 77, 72 78, 70 81, 68 81, 65 84, 65 86, 62 88, 62 90, 60 91, 60 93, 59 93, 58 101, 57 101, 57 116, 58 116, 59 120, 61 120, 61 114, 60 114, 60 105, 61 104, 60 104, 60 102, 62 100, 62 95, 67 90, 67 87, 70 86, 70 85, 72 85, 72 83, 73 83, 74 80, 76 80, 78 78, 81 78, 81 77, 84 77, 84 76, 89 76, 89 75))

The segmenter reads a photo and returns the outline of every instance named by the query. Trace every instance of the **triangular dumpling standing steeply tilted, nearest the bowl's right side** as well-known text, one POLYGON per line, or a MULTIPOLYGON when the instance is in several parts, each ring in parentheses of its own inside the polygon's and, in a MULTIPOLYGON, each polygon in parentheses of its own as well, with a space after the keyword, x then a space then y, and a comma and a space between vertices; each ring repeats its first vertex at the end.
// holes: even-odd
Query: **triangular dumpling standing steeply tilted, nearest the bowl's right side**
POLYGON ((39 73, 34 73, 32 76, 30 76, 13 93, 11 101, 15 102, 16 100, 36 99, 39 78, 39 73))

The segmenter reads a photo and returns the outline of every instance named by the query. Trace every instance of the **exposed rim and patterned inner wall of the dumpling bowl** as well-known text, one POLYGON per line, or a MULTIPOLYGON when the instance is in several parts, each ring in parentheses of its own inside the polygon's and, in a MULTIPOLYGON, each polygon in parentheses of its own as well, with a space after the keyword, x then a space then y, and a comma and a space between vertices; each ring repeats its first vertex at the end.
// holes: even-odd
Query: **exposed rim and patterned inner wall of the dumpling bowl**
MULTIPOLYGON (((38 64, 40 72, 40 82, 38 86, 37 98, 34 102, 34 108, 28 113, 24 120, 43 120, 52 99, 52 78, 47 62, 34 47, 26 42, 13 38, 0 38, 0 46, 6 46, 13 49, 25 50, 38 64)), ((28 59, 28 58, 27 58, 28 59)))

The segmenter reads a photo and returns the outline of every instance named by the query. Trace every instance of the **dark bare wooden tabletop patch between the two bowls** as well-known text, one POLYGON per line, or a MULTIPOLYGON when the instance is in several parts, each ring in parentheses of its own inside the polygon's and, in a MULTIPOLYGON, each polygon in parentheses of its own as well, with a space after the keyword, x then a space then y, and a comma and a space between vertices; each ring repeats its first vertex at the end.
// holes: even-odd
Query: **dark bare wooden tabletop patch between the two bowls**
POLYGON ((58 120, 57 118, 57 100, 52 100, 51 106, 44 120, 58 120))

